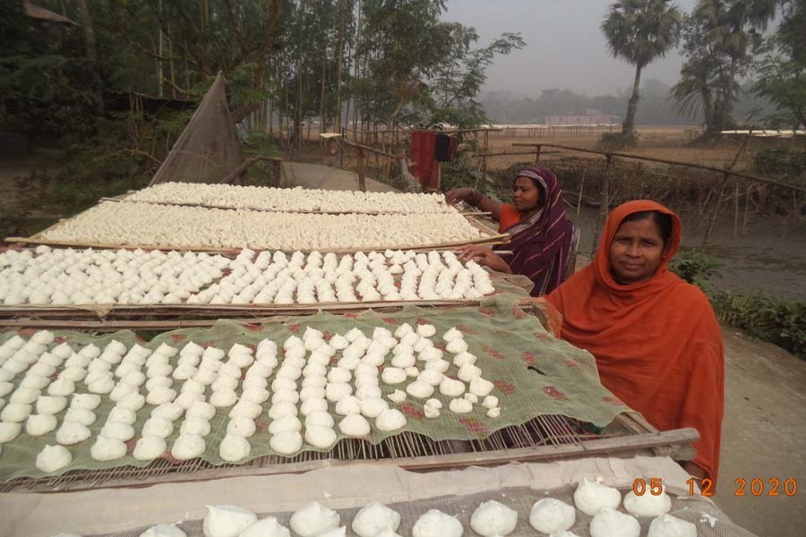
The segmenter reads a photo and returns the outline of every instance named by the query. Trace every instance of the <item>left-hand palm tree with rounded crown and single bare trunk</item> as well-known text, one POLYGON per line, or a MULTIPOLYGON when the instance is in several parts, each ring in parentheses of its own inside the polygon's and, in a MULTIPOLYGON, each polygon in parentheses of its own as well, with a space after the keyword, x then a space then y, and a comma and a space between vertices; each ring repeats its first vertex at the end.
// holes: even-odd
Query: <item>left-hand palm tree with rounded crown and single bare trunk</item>
POLYGON ((674 46, 681 18, 671 0, 622 0, 610 5, 602 21, 602 33, 613 57, 635 65, 632 97, 622 124, 625 141, 635 130, 641 70, 674 46))

